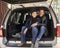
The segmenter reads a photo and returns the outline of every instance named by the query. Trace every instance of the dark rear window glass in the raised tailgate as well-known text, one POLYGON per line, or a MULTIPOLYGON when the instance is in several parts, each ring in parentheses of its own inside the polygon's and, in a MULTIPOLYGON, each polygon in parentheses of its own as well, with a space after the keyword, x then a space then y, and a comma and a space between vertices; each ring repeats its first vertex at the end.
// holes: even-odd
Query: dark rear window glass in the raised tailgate
POLYGON ((47 0, 3 0, 3 1, 12 3, 12 4, 19 4, 19 3, 43 2, 47 0))

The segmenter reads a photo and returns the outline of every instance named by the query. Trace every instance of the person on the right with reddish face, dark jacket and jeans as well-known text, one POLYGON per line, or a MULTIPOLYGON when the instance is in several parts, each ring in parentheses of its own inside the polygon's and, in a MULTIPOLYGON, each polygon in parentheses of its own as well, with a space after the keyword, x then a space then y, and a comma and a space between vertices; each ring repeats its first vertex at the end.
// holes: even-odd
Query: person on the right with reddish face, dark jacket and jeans
POLYGON ((39 35, 36 39, 35 48, 38 48, 39 40, 41 40, 43 34, 46 32, 47 19, 46 19, 46 16, 45 16, 44 9, 40 9, 39 18, 40 18, 40 22, 38 24, 40 26, 40 31, 39 31, 39 35))

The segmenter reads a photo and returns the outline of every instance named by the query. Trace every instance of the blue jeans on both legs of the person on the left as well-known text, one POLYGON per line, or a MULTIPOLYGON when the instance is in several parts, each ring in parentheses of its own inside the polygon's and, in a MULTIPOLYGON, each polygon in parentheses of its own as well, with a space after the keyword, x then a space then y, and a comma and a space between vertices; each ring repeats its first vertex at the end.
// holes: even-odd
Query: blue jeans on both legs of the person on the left
MULTIPOLYGON (((23 26, 22 27, 22 33, 21 33, 21 43, 25 43, 26 39, 25 39, 25 35, 24 34, 24 30, 26 29, 26 26, 23 26)), ((32 27, 32 43, 34 44, 35 41, 36 41, 36 36, 37 36, 37 33, 38 33, 38 29, 37 27, 32 27)))

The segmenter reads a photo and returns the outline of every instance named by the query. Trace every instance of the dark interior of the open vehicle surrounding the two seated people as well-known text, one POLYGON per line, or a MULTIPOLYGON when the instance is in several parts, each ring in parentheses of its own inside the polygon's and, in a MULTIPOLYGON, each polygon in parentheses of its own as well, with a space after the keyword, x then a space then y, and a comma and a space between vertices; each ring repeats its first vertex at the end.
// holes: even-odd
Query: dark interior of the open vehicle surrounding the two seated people
MULTIPOLYGON (((46 8, 46 7, 30 7, 30 8, 14 9, 11 12, 11 15, 7 22, 7 34, 6 34, 7 40, 13 40, 13 41, 20 40, 20 37, 13 37, 13 35, 16 35, 17 33, 19 35, 21 35, 22 26, 24 26, 27 19, 30 18, 31 10, 36 9, 37 13, 39 13, 40 8, 44 9, 45 16, 48 20, 47 21, 47 31, 43 35, 41 41, 53 40, 54 39, 54 32, 53 32, 53 27, 52 27, 52 26, 54 26, 53 19, 52 19, 52 16, 51 16, 48 8, 46 8)), ((26 41, 31 41, 31 39, 32 39, 32 33, 31 33, 31 29, 29 29, 28 32, 26 33, 26 41)))

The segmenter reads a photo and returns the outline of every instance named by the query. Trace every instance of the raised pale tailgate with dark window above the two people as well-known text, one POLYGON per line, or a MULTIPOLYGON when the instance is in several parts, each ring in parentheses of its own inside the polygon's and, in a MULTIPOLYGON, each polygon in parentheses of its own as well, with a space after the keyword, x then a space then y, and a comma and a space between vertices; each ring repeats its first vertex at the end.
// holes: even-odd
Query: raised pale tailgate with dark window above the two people
POLYGON ((7 6, 10 9, 24 8, 24 7, 35 7, 35 6, 48 6, 51 0, 2 0, 7 2, 7 6), (48 3, 49 2, 49 3, 48 3))

